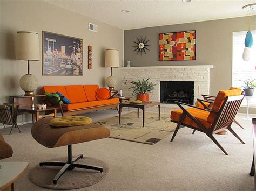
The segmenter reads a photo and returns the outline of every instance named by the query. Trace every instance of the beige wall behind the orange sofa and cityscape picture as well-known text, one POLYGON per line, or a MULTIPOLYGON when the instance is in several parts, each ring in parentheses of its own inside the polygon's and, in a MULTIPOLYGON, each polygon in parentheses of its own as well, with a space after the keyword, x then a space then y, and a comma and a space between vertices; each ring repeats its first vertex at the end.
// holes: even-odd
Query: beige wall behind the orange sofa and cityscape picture
MULTIPOLYGON (((110 68, 104 68, 106 48, 120 50, 120 66, 122 66, 124 31, 117 27, 43 1, 3 0, 0 18, 2 18, 0 103, 8 102, 10 95, 23 94, 22 89, 19 88, 19 79, 26 74, 26 62, 16 60, 16 38, 19 30, 39 33, 40 54, 42 30, 83 39, 83 76, 42 76, 42 60, 31 62, 30 70, 37 77, 39 87, 53 84, 99 84, 99 86, 105 86, 105 77, 110 75, 110 68), (88 22, 98 25, 98 33, 88 30, 88 22), (89 44, 92 45, 93 51, 93 69, 91 70, 87 69, 87 46, 89 44)), ((115 71, 116 69, 114 69, 114 73, 115 71)), ((119 76, 116 76, 119 79, 119 76)))

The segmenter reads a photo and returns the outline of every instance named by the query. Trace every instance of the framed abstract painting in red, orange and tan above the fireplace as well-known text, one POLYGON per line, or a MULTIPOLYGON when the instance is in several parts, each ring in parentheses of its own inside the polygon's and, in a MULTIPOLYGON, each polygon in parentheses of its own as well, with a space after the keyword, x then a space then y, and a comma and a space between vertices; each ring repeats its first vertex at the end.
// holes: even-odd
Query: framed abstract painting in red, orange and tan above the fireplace
POLYGON ((196 31, 159 34, 159 61, 196 60, 196 31))

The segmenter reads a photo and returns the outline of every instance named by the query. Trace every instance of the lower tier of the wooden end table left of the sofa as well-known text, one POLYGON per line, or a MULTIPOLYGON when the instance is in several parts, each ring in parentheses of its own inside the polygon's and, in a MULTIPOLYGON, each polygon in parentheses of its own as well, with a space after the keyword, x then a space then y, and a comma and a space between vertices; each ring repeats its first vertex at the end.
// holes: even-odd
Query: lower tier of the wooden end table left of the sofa
MULTIPOLYGON (((39 119, 44 118, 44 117, 56 117, 57 109, 59 109, 59 107, 48 106, 46 109, 38 109, 38 108, 32 108, 30 106, 23 106, 23 107, 19 108, 19 111, 35 115, 36 121, 38 121, 39 119), (52 112, 50 114, 40 115, 40 112, 43 112, 43 111, 52 111, 52 112)), ((32 119, 32 123, 33 124, 35 123, 34 118, 32 119)))

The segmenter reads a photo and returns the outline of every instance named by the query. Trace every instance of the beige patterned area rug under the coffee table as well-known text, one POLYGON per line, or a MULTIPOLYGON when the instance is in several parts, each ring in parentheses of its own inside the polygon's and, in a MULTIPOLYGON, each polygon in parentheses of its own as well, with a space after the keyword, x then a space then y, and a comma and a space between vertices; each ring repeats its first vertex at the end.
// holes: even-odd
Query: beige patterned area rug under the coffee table
POLYGON ((170 115, 145 112, 145 126, 142 127, 142 112, 137 118, 137 112, 130 112, 121 116, 121 124, 118 124, 118 116, 94 122, 110 129, 110 137, 131 142, 153 145, 161 139, 171 135, 176 124, 170 121, 170 115))

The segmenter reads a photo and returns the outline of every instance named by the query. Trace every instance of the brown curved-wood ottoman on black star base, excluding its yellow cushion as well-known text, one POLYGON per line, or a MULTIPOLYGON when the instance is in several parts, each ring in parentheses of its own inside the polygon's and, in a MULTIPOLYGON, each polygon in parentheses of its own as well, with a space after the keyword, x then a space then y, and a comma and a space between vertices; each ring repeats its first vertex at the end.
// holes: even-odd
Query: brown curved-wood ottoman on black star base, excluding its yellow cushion
POLYGON ((33 138, 41 145, 48 148, 68 146, 68 161, 66 162, 41 162, 42 166, 63 166, 59 173, 53 179, 53 184, 57 184, 58 179, 67 171, 74 168, 85 168, 103 172, 102 167, 77 164, 83 154, 72 158, 72 145, 77 143, 89 142, 107 138, 110 130, 98 124, 89 124, 83 126, 70 126, 64 128, 54 128, 49 122, 51 119, 41 119, 31 128, 33 138))

